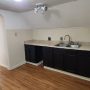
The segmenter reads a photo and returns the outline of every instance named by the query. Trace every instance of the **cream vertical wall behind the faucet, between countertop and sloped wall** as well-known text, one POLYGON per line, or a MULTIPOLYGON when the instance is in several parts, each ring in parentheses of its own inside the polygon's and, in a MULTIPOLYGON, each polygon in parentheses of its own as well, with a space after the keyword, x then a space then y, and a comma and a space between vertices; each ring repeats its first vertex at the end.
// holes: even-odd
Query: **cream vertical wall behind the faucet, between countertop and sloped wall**
POLYGON ((37 29, 33 30, 33 39, 47 40, 48 36, 52 40, 60 40, 60 37, 70 35, 73 41, 90 42, 90 28, 56 28, 56 29, 37 29))

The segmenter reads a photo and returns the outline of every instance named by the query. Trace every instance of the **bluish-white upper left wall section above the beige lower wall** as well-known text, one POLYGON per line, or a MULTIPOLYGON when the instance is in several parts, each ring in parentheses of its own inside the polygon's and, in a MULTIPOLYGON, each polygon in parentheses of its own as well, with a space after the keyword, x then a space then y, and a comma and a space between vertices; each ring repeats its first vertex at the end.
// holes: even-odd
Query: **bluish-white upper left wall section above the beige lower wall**
POLYGON ((28 29, 28 23, 20 13, 0 10, 0 15, 4 18, 6 30, 28 29))

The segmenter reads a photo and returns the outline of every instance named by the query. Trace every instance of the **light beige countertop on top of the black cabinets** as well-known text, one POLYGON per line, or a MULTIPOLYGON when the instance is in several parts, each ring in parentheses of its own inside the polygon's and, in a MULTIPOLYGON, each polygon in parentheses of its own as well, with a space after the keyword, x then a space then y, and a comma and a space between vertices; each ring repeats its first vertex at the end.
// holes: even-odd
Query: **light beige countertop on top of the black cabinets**
POLYGON ((54 48, 90 51, 90 43, 88 43, 88 42, 81 43, 81 46, 79 48, 55 46, 58 43, 60 43, 60 42, 59 41, 45 41, 45 40, 28 40, 28 41, 24 42, 24 44, 27 44, 27 45, 47 46, 47 47, 54 47, 54 48))

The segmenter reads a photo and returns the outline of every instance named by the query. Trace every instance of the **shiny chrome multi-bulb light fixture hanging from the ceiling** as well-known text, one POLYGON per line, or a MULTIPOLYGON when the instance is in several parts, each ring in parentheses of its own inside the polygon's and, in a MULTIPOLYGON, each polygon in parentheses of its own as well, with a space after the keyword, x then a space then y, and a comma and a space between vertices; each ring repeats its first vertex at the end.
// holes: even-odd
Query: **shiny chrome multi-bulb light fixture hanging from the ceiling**
POLYGON ((40 13, 40 14, 42 14, 42 13, 44 13, 45 11, 47 11, 47 6, 46 5, 44 5, 44 4, 42 4, 42 3, 37 3, 36 4, 36 7, 34 8, 34 12, 35 13, 40 13))

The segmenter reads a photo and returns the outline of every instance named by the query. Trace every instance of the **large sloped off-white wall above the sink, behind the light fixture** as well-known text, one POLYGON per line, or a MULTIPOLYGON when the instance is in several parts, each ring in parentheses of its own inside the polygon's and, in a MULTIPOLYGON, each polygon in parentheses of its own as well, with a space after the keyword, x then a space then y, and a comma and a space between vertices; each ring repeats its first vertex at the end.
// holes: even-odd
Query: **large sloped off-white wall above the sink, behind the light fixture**
POLYGON ((48 9, 42 14, 34 11, 22 13, 30 27, 60 28, 60 27, 90 27, 90 0, 76 0, 60 4, 48 9))

